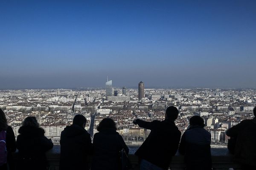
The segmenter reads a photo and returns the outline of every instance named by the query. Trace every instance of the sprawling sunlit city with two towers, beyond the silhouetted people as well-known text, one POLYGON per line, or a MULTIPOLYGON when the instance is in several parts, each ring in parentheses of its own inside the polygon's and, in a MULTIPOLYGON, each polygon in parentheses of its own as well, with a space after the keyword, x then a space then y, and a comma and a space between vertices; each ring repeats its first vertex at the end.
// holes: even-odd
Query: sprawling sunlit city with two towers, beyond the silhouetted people
POLYGON ((181 133, 188 128, 189 118, 198 115, 211 133, 212 147, 227 147, 227 129, 252 119, 256 104, 255 89, 149 89, 143 81, 134 89, 116 88, 112 83, 107 80, 105 88, 1 90, 0 108, 16 137, 22 121, 36 116, 45 136, 58 145, 61 131, 76 114, 82 114, 92 139, 99 122, 110 117, 129 146, 140 146, 150 130, 134 125, 133 120, 163 120, 165 109, 173 105, 179 110, 175 124, 181 133))

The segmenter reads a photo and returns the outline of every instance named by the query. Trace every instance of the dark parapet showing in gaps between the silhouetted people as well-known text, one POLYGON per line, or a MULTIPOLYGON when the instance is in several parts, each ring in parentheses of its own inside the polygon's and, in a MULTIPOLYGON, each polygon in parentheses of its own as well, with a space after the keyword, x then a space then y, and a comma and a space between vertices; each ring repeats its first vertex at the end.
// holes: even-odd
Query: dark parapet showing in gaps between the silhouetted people
MULTIPOLYGON (((241 170, 241 166, 233 162, 233 155, 229 153, 227 148, 212 148, 212 167, 213 170, 229 170, 229 168, 234 168, 234 170, 241 170)), ((46 154, 47 160, 49 162, 50 170, 59 169, 59 159, 60 159, 60 145, 55 145, 46 154)), ((17 152, 14 153, 14 159, 17 160, 17 152)), ((140 170, 138 157, 129 154, 129 159, 132 164, 132 170, 140 170)), ((176 153, 172 157, 172 163, 170 164, 171 170, 184 170, 184 156, 176 153)))

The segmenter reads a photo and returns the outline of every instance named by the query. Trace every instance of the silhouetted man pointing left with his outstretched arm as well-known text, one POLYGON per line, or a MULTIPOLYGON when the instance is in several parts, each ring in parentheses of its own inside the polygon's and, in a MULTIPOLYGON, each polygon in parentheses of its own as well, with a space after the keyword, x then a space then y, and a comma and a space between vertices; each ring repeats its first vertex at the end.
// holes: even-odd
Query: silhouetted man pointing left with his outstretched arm
POLYGON ((134 120, 134 123, 140 127, 151 130, 145 142, 135 153, 141 159, 141 170, 168 169, 180 143, 180 130, 174 123, 178 114, 177 108, 170 106, 166 109, 165 119, 162 122, 134 120))

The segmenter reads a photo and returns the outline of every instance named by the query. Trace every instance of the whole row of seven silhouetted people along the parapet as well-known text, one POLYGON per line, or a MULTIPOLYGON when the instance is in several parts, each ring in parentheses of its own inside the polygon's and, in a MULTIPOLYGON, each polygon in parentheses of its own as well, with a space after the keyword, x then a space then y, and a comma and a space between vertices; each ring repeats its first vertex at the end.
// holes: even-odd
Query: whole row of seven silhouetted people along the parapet
MULTIPOLYGON (((141 170, 167 170, 177 150, 184 155, 186 170, 212 170, 211 134, 204 129, 204 119, 192 116, 189 127, 181 136, 175 125, 178 113, 176 107, 170 106, 163 121, 133 121, 151 130, 135 153, 141 170)), ((256 108, 253 113, 256 116, 256 108)), ((130 169, 129 149, 116 132, 116 123, 111 118, 102 119, 92 143, 90 134, 84 129, 86 122, 86 118, 78 114, 73 125, 61 132, 60 170, 130 169)), ((45 153, 53 143, 44 136, 36 118, 26 117, 18 132, 15 141, 12 127, 7 125, 6 116, 0 109, 0 170, 47 170, 45 153), (12 153, 16 148, 18 160, 15 164, 12 153)), ((244 170, 256 170, 256 118, 231 127, 227 136, 230 136, 228 149, 234 154, 234 161, 244 170)))

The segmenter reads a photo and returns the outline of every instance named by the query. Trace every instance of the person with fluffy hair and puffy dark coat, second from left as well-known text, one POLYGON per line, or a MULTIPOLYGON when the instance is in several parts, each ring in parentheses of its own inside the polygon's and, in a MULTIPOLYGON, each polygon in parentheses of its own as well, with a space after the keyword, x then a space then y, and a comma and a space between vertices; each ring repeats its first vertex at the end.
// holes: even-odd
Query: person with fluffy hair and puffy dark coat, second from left
POLYGON ((45 152, 53 147, 52 140, 44 136, 35 116, 26 117, 17 137, 18 170, 46 170, 45 152))

